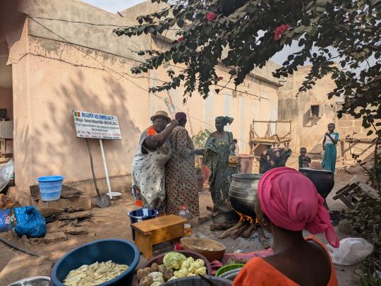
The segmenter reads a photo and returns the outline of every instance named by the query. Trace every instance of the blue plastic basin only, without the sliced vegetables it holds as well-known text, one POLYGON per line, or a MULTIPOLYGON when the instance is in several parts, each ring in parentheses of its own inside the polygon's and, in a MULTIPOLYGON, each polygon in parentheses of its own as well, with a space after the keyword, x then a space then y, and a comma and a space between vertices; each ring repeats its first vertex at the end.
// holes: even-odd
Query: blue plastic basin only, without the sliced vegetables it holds
POLYGON ((83 244, 69 251, 54 265, 51 273, 53 285, 64 286, 68 273, 84 264, 114 261, 128 265, 128 269, 116 278, 104 282, 106 285, 131 285, 133 270, 138 266, 140 252, 133 242, 124 239, 100 239, 83 244))

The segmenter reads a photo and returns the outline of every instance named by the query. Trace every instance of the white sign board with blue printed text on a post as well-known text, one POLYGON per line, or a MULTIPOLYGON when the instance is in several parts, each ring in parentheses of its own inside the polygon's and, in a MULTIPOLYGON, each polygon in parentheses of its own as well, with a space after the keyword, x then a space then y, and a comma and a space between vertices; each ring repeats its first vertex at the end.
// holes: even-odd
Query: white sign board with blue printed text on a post
POLYGON ((118 117, 78 110, 73 110, 73 115, 77 137, 121 139, 118 117))

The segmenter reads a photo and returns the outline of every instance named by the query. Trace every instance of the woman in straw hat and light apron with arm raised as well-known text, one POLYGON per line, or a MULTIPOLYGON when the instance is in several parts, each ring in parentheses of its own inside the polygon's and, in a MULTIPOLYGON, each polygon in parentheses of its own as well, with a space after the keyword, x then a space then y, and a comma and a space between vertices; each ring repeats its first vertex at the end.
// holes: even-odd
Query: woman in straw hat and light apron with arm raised
POLYGON ((151 121, 152 126, 143 131, 133 157, 133 189, 135 200, 141 199, 144 208, 164 214, 165 165, 172 153, 168 138, 178 121, 171 120, 164 111, 156 112, 151 121))

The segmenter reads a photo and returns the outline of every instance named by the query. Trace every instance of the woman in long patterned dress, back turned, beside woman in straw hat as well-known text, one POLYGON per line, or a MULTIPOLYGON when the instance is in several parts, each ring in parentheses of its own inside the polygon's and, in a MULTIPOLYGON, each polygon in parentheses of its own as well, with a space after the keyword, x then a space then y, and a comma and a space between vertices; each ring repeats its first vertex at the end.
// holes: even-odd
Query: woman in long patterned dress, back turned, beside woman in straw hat
POLYGON ((165 187, 167 189, 167 215, 178 215, 181 205, 186 205, 192 218, 200 216, 198 191, 195 173, 195 150, 191 137, 186 131, 186 114, 178 112, 179 121, 169 136, 172 148, 171 159, 165 167, 165 187))

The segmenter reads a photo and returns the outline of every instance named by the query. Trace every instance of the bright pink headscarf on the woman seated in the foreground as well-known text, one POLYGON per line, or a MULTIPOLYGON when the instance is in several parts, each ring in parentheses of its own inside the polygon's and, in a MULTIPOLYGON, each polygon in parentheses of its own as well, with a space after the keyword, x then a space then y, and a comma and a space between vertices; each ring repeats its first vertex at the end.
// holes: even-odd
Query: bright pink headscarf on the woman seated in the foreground
POLYGON ((263 213, 277 227, 324 232, 328 243, 339 247, 324 199, 305 175, 287 167, 270 169, 260 179, 258 198, 263 213))

